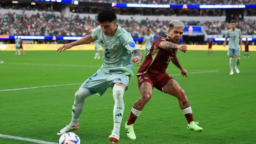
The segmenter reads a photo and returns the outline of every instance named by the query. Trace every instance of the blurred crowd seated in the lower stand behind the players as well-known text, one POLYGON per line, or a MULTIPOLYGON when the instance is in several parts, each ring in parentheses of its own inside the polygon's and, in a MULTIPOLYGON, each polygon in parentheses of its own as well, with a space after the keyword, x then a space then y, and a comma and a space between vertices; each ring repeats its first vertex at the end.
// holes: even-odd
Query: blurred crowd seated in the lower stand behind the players
MULTIPOLYGON (((132 34, 133 37, 143 37, 148 28, 151 29, 155 37, 164 35, 168 30, 169 21, 150 21, 148 19, 137 21, 134 17, 129 20, 118 19, 117 23, 132 34)), ((183 22, 184 25, 201 25, 208 34, 220 34, 221 30, 228 30, 228 22, 219 21, 189 21, 183 22)), ((86 36, 91 33, 92 28, 96 28, 98 22, 95 17, 79 18, 72 15, 64 17, 54 14, 36 14, 31 17, 26 15, 5 14, 0 19, 1 35, 41 35, 41 36, 86 36)), ((256 34, 256 21, 239 21, 237 28, 241 29, 242 34, 256 34)))

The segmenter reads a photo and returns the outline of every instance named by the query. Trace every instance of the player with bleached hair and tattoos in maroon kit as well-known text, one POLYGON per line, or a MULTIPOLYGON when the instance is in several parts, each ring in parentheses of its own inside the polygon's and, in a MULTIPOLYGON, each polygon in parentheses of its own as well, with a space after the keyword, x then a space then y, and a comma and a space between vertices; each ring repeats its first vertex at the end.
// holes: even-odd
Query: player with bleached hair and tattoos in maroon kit
POLYGON ((198 122, 194 122, 193 120, 192 109, 184 90, 177 81, 165 72, 169 62, 172 62, 180 69, 181 75, 188 76, 187 71, 183 69, 176 56, 178 50, 183 52, 187 51, 186 45, 175 44, 182 38, 183 31, 184 25, 182 22, 176 20, 170 22, 168 35, 161 36, 152 43, 148 55, 140 66, 137 77, 141 98, 135 102, 129 120, 125 123, 128 138, 136 139, 133 123, 141 113, 143 107, 151 99, 153 87, 178 98, 180 108, 188 121, 188 130, 196 132, 202 131, 202 128, 197 125, 198 122))

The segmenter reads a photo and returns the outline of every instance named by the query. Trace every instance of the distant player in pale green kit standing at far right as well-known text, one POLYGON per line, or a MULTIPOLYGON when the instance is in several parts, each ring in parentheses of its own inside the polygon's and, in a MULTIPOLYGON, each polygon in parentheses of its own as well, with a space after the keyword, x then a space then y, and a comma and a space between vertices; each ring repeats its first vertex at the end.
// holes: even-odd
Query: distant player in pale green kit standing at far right
POLYGON ((223 43, 223 46, 226 46, 227 39, 228 41, 228 53, 227 55, 229 58, 229 66, 230 66, 230 75, 233 75, 233 57, 235 55, 236 58, 236 65, 235 65, 235 71, 236 73, 239 73, 238 65, 240 63, 240 51, 239 51, 239 42, 240 42, 240 49, 242 49, 242 37, 241 37, 241 31, 236 28, 235 21, 231 22, 231 29, 229 29, 226 33, 226 39, 223 43))

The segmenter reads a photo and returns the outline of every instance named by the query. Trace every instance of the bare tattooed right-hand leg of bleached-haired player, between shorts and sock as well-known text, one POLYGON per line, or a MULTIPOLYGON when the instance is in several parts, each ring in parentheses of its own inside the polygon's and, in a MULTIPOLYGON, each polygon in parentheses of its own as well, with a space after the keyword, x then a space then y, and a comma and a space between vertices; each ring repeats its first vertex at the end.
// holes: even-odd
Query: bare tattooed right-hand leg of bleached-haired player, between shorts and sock
POLYGON ((176 80, 171 79, 168 82, 166 82, 166 84, 163 86, 163 89, 165 93, 178 98, 180 108, 182 110, 190 107, 189 101, 185 95, 184 90, 181 88, 181 86, 176 80))

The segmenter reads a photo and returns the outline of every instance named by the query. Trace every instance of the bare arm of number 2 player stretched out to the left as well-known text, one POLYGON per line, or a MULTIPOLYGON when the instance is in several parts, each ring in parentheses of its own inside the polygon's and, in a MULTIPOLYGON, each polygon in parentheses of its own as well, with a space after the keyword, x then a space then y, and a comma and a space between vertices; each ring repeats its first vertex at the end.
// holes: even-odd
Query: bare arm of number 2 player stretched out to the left
POLYGON ((77 41, 71 42, 71 43, 69 43, 69 44, 64 44, 64 45, 62 45, 61 47, 59 47, 59 48, 57 49, 57 51, 60 50, 60 52, 61 52, 61 50, 69 49, 69 48, 71 48, 72 46, 77 46, 77 45, 82 45, 82 44, 88 44, 88 43, 91 43, 91 42, 94 42, 94 41, 96 41, 96 40, 92 38, 92 35, 88 35, 88 36, 85 36, 85 37, 83 37, 83 38, 81 38, 81 39, 79 39, 79 40, 77 40, 77 41))

